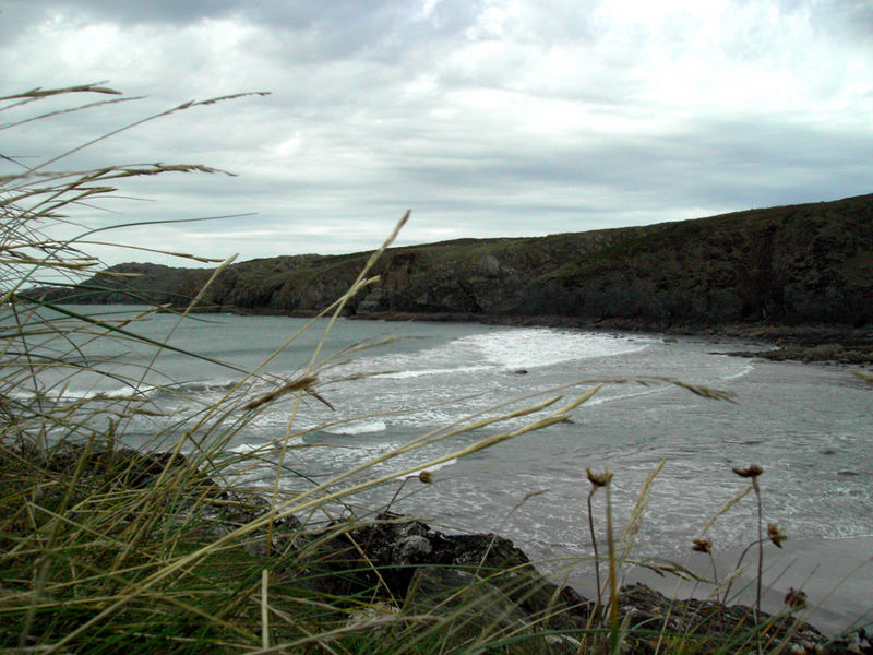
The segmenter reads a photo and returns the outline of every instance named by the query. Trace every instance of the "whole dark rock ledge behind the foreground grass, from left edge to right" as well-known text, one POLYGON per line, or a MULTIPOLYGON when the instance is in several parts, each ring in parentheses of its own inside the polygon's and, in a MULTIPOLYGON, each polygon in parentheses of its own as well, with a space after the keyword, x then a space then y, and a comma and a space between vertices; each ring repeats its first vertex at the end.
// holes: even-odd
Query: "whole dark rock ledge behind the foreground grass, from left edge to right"
MULTIPOLYGON (((67 444, 48 454, 33 448, 0 449, 0 460, 25 456, 40 461, 47 471, 69 473, 84 456, 80 478, 84 490, 110 478, 112 485, 144 488, 162 472, 167 476, 192 466, 183 455, 143 454, 131 449, 85 454, 83 449, 67 444)), ((226 489, 206 476, 194 475, 199 500, 179 515, 186 522, 192 515, 202 520, 210 526, 206 536, 227 535, 268 510, 268 501, 255 492, 226 489)), ((275 574, 298 576, 301 588, 310 593, 325 598, 360 595, 368 607, 385 612, 432 620, 454 617, 451 652, 483 635, 491 642, 505 640, 505 650, 499 652, 519 655, 589 652, 581 650, 583 640, 591 644, 606 639, 603 607, 570 586, 549 581, 511 540, 495 534, 445 534, 415 517, 382 513, 367 521, 315 528, 290 516, 274 524, 268 549, 266 540, 265 529, 255 531, 244 547, 251 556, 268 561, 275 574), (288 564, 283 562, 294 565, 286 571, 283 567, 288 564)), ((699 652, 723 652, 726 644, 731 644, 731 652, 756 652, 746 636, 754 633, 755 612, 746 606, 670 599, 635 584, 622 587, 618 608, 619 624, 631 628, 624 653, 655 653, 659 640, 671 635, 695 644, 699 652)), ((349 624, 368 619, 359 615, 349 609, 349 624)), ((765 641, 769 643, 765 652, 787 641, 781 652, 873 655, 873 643, 863 631, 850 639, 828 640, 797 620, 788 608, 775 616, 762 612, 761 624, 766 626, 765 641)), ((660 643, 660 652, 667 652, 665 643, 660 643)))

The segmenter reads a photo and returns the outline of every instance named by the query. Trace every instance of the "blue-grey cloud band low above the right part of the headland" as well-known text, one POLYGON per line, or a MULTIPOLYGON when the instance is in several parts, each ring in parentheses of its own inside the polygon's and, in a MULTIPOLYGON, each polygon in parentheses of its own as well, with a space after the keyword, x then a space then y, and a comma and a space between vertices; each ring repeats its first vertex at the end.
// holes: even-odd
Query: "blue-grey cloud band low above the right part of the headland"
MULTIPOLYGON (((514 195, 540 192, 540 212, 549 213, 549 196, 560 190, 566 210, 575 200, 584 206, 593 190, 613 203, 633 198, 637 206, 757 206, 822 200, 869 192, 864 153, 873 152, 873 135, 828 133, 778 122, 715 122, 690 126, 667 136, 625 138, 590 147, 541 151, 493 148, 488 157, 441 166, 421 159, 399 172, 410 187, 443 190, 445 206, 475 203, 470 195, 500 189, 506 204, 514 195)), ((433 196, 431 196, 433 198, 433 196)), ((434 201, 434 204, 441 204, 434 201)), ((503 203, 500 203, 503 204, 503 203)))

